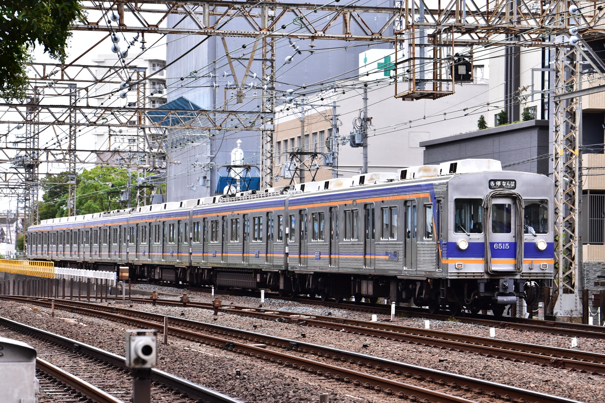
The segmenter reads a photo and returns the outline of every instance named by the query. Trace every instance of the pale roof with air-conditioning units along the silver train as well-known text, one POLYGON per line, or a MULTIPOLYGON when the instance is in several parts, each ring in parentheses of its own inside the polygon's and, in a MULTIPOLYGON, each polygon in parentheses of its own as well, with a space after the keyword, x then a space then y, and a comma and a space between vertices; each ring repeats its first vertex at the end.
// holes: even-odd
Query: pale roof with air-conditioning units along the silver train
MULTIPOLYGON (((329 190, 352 190, 360 186, 400 182, 419 181, 426 178, 453 176, 461 173, 502 171, 500 161, 482 158, 449 161, 436 165, 411 166, 393 172, 370 172, 355 175, 352 178, 333 178, 324 181, 303 182, 295 185, 271 187, 265 190, 247 190, 229 195, 209 196, 206 198, 186 199, 179 202, 165 202, 121 210, 105 211, 102 213, 83 214, 79 216, 61 217, 42 220, 41 225, 64 224, 88 221, 91 219, 106 219, 128 214, 156 213, 158 211, 183 211, 198 206, 212 205, 224 202, 252 201, 270 198, 272 196, 297 195, 303 193, 325 192, 329 190)), ((445 179, 445 178, 443 178, 445 179)))

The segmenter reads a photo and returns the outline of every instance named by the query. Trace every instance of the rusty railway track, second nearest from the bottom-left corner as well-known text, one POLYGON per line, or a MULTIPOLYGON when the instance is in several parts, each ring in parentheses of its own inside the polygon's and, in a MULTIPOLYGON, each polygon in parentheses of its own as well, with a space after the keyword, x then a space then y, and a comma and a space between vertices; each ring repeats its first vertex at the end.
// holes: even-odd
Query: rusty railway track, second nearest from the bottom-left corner
MULTIPOLYGON (((46 303, 35 301, 35 303, 46 303)), ((164 329, 165 316, 132 309, 88 305, 67 301, 58 302, 56 308, 74 310, 120 321, 137 327, 164 329), (99 311, 100 309, 100 311, 99 311)), ((227 308, 228 311, 229 308, 227 308)), ((250 312, 250 311, 249 311, 250 312)), ((267 315, 275 315, 266 312, 267 315)), ((275 318, 275 316, 272 316, 275 318)), ((297 317, 298 320, 309 317, 297 317)), ((390 395, 420 401, 513 401, 513 402, 568 402, 569 399, 544 395, 494 382, 481 381, 439 370, 317 346, 301 341, 261 335, 255 332, 200 323, 182 318, 168 318, 168 334, 219 349, 242 353, 276 364, 282 364, 326 378, 371 387, 390 395), (336 365, 335 363, 338 363, 336 365), (363 369, 360 372, 359 369, 363 369), (460 400, 462 399, 462 400, 460 400)))

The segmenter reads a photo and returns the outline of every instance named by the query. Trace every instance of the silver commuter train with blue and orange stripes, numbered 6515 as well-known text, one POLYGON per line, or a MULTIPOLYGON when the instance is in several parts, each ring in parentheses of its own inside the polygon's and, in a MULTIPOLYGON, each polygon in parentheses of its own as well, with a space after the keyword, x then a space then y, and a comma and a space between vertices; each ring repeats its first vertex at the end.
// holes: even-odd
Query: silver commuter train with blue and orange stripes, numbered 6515
POLYGON ((28 228, 27 254, 150 282, 502 314, 552 285, 553 213, 546 176, 460 160, 48 219, 28 228))

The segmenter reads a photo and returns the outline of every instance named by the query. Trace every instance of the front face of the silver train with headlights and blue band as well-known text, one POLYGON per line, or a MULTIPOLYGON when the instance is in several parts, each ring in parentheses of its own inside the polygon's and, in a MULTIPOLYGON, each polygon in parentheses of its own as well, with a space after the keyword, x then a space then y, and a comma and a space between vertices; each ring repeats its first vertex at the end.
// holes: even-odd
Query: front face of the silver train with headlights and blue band
POLYGON ((448 181, 442 240, 449 306, 502 315, 524 298, 534 306, 554 277, 554 184, 523 172, 479 172, 448 181))

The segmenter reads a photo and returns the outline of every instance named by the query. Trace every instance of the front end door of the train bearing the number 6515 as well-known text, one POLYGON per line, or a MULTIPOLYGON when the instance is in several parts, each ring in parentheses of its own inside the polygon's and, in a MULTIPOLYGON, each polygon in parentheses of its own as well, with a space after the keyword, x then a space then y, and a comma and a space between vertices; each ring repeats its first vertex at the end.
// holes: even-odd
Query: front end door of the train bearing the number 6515
POLYGON ((523 237, 518 239, 517 206, 512 198, 492 198, 489 219, 489 262, 490 271, 515 271, 517 267, 517 245, 523 245, 523 237))

